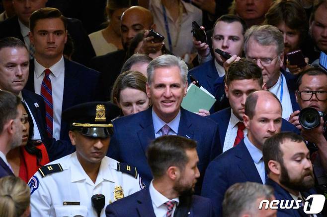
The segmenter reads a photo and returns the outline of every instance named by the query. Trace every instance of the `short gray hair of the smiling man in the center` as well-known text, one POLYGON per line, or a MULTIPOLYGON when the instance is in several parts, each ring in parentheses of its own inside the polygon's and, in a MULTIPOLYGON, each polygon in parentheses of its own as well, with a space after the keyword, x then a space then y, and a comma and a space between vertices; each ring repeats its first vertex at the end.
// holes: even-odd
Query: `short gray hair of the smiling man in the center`
POLYGON ((158 56, 157 58, 155 58, 150 62, 147 68, 148 84, 151 85, 152 83, 153 73, 155 69, 170 68, 173 66, 177 66, 179 68, 180 77, 182 79, 182 82, 185 84, 187 82, 187 73, 188 73, 188 67, 185 61, 180 57, 169 55, 169 54, 158 56))

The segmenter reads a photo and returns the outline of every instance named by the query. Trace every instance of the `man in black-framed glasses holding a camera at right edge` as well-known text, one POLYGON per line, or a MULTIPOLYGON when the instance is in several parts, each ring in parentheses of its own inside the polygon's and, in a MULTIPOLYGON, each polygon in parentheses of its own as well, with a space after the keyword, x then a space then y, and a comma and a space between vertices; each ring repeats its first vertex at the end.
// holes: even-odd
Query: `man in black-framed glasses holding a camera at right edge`
MULTIPOLYGON (((302 72, 296 82, 296 101, 301 109, 314 108, 318 111, 327 112, 327 72, 322 68, 311 68, 302 72)), ((294 111, 289 122, 301 130, 301 135, 308 141, 310 147, 314 146, 318 151, 313 152, 311 161, 314 164, 314 173, 318 182, 318 190, 327 192, 327 141, 324 133, 324 120, 321 124, 310 130, 302 128, 299 123, 299 110, 294 111), (322 189, 324 188, 325 189, 322 189)))

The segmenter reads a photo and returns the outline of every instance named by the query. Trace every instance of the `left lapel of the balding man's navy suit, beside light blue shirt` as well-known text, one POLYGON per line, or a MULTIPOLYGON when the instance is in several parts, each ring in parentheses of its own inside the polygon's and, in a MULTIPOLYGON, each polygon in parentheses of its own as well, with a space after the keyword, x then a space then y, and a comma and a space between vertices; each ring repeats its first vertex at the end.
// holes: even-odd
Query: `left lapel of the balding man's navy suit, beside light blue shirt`
POLYGON ((250 153, 248 152, 244 140, 236 147, 238 152, 235 154, 237 158, 240 158, 238 166, 246 177, 247 181, 258 182, 262 184, 259 172, 256 169, 250 153))

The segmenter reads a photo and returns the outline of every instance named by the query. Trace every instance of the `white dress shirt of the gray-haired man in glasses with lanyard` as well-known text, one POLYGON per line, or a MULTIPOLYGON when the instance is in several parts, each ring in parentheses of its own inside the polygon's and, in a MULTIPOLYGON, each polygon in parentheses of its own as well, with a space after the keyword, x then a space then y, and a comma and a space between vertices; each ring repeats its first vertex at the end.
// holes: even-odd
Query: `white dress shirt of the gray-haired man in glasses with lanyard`
POLYGON ((281 101, 283 107, 282 118, 288 120, 291 113, 293 113, 292 102, 290 92, 288 91, 286 78, 283 73, 280 73, 277 83, 269 88, 269 91, 276 95, 279 101, 281 101), (281 86, 283 84, 283 95, 281 95, 281 86), (281 100, 282 98, 282 100, 281 100))

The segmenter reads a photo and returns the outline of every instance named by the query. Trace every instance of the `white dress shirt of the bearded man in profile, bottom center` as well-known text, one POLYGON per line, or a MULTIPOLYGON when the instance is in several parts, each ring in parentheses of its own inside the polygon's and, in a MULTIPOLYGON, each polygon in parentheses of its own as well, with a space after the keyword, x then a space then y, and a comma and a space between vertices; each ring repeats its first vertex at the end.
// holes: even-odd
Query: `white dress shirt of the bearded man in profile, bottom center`
POLYGON ((164 205, 165 202, 167 202, 167 201, 176 201, 177 202, 174 204, 174 207, 172 208, 171 217, 173 217, 175 209, 178 206, 179 199, 174 198, 172 200, 169 200, 164 195, 162 195, 159 191, 157 191, 157 189, 153 186, 152 181, 149 186, 149 192, 150 192, 150 197, 151 197, 151 201, 152 201, 153 211, 155 212, 156 217, 166 217, 167 207, 164 205))

